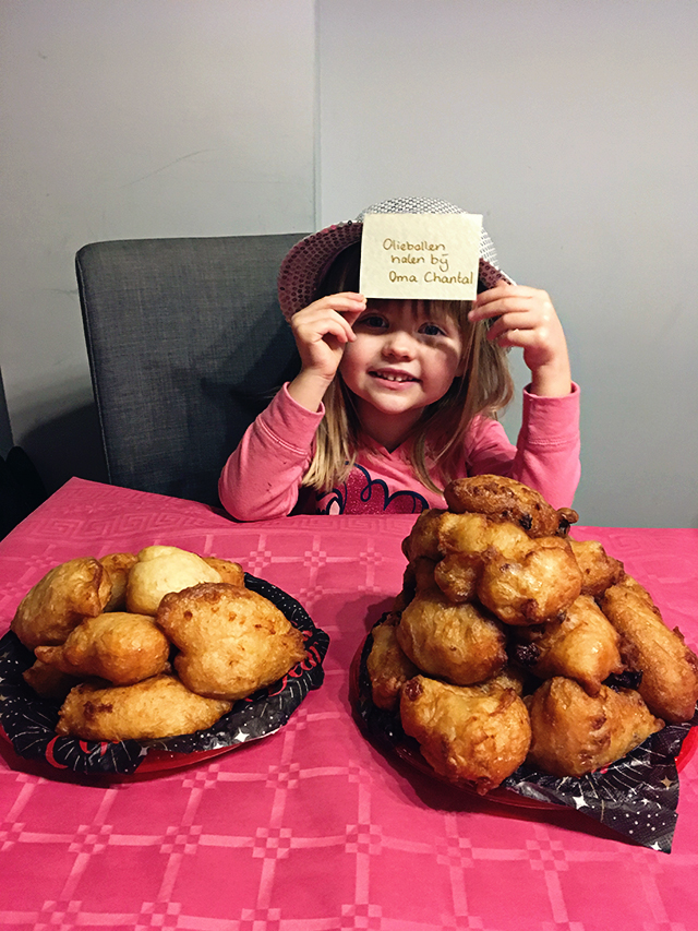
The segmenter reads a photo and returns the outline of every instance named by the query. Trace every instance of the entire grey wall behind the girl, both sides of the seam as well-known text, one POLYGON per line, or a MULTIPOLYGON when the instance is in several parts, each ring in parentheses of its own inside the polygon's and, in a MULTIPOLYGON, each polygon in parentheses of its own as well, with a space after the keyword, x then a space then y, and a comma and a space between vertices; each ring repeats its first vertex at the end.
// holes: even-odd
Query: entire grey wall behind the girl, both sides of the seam
POLYGON ((697 27, 695 0, 0 0, 14 441, 49 488, 103 477, 85 242, 425 194, 483 213, 503 267, 553 296, 582 523, 697 526, 697 27))

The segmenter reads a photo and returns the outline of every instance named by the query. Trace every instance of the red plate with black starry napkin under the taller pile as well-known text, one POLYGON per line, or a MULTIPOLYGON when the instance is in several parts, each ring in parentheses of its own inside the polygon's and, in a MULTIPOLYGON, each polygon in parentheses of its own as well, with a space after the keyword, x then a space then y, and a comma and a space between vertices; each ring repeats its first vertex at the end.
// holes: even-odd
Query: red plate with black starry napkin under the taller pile
MULTIPOLYGON (((362 730, 381 749, 446 783, 424 760, 418 742, 405 733, 399 713, 373 704, 366 670, 372 644, 369 634, 354 656, 351 670, 351 701, 362 730)), ((634 844, 669 854, 676 826, 678 769, 696 750, 698 730, 691 732, 696 725, 698 712, 691 721, 667 725, 623 760, 580 778, 549 776, 524 765, 486 796, 479 796, 474 788, 465 785, 448 785, 480 801, 579 811, 634 844)))

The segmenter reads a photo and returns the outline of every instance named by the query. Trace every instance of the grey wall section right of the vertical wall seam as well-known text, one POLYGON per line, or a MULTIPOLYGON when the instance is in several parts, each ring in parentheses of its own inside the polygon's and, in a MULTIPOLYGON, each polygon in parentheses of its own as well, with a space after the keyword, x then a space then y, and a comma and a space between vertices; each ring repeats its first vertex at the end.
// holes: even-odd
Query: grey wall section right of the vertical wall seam
POLYGON ((320 12, 323 224, 406 193, 482 213, 565 325, 581 522, 698 526, 698 3, 320 12))

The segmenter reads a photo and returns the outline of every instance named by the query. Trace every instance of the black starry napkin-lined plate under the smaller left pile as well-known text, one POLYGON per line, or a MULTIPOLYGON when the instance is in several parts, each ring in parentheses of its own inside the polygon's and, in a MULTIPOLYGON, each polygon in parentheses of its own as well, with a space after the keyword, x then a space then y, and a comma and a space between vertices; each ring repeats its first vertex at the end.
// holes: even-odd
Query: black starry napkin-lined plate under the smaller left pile
POLYGON ((290 595, 248 573, 244 580, 248 588, 268 598, 302 632, 308 657, 282 679, 236 702, 213 727, 163 740, 109 742, 58 737, 60 703, 40 699, 26 684, 22 673, 33 665, 34 654, 8 631, 0 640, 0 735, 26 760, 104 776, 189 766, 279 730, 305 695, 322 685, 329 637, 290 595))

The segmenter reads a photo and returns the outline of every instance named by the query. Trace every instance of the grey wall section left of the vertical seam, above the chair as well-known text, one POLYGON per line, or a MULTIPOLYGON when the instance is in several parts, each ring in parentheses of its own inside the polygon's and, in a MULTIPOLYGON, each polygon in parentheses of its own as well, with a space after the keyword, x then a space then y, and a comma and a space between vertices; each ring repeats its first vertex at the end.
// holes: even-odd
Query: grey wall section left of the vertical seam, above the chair
POLYGON ((312 0, 0 0, 0 368, 49 489, 104 477, 86 242, 314 223, 312 0))

